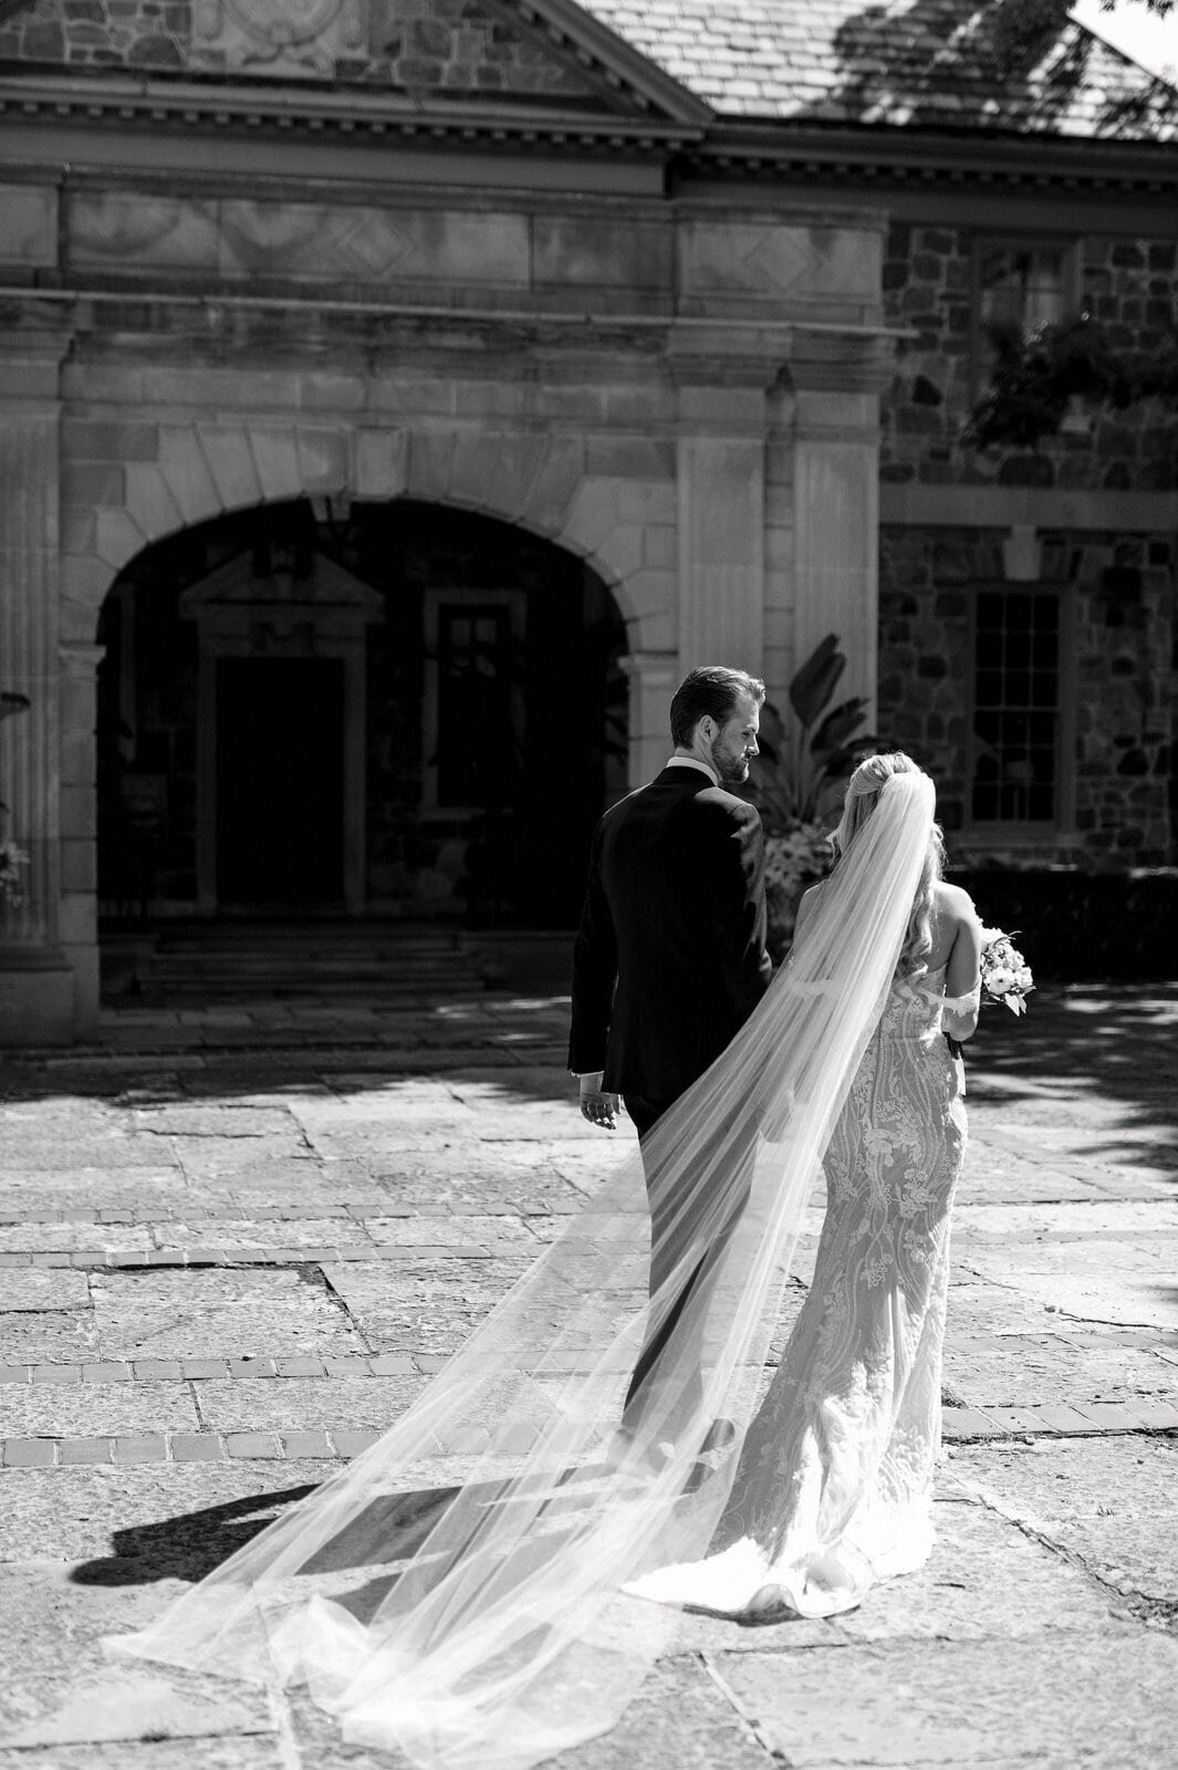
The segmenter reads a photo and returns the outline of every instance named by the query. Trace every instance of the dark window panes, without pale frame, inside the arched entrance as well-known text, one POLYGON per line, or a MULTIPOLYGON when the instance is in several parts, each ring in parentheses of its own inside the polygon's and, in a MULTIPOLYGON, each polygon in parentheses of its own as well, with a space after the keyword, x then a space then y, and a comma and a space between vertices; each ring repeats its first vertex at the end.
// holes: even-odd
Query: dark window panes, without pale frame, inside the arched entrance
POLYGON ((516 768, 511 609, 437 611, 437 804, 485 805, 516 768))

